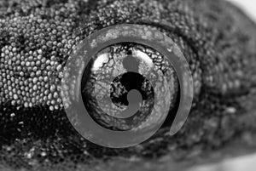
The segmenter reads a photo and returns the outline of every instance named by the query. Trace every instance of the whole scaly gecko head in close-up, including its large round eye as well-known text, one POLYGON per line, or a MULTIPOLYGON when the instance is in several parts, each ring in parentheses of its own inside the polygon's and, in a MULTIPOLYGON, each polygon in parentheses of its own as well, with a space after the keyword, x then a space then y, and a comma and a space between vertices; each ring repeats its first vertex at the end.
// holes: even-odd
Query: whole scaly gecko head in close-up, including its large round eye
POLYGON ((0 9, 0 168, 186 158, 255 133, 256 26, 230 3, 14 0, 0 9), (189 117, 177 132, 179 110, 189 117), (90 123, 119 132, 122 145, 103 129, 108 139, 96 141, 90 123), (141 123, 150 132, 132 141, 125 133, 141 123))

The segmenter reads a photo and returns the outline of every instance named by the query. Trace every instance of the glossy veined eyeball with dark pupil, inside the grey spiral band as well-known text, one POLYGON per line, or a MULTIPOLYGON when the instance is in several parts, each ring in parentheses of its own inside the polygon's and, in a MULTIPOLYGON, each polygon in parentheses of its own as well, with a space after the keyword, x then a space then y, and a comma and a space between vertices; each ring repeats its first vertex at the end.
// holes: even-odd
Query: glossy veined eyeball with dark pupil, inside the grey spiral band
POLYGON ((172 64, 153 48, 119 43, 90 60, 81 88, 84 105, 96 123, 131 130, 174 110, 178 82, 172 64))

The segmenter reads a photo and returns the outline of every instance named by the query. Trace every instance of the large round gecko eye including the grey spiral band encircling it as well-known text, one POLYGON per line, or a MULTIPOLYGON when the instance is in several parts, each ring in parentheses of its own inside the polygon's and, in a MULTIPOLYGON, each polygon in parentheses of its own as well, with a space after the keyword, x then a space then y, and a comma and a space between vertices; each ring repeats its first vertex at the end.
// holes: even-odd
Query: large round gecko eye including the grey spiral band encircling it
POLYGON ((175 134, 189 115, 193 83, 170 37, 147 26, 120 25, 91 34, 73 50, 62 97, 79 134, 119 148, 147 140, 166 117, 175 134))

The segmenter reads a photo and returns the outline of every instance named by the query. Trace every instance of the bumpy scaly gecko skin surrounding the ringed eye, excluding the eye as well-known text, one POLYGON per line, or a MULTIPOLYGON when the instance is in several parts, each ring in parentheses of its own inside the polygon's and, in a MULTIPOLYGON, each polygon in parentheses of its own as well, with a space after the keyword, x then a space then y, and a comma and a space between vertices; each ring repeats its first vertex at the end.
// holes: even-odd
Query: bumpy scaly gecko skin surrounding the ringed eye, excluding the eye
POLYGON ((255 134, 255 65, 256 26, 221 0, 2 0, 0 169, 80 170, 118 156, 180 159, 255 134), (142 145, 113 150, 84 140, 68 122, 61 74, 81 40, 124 23, 157 28, 177 43, 196 100, 175 136, 161 128, 142 145))

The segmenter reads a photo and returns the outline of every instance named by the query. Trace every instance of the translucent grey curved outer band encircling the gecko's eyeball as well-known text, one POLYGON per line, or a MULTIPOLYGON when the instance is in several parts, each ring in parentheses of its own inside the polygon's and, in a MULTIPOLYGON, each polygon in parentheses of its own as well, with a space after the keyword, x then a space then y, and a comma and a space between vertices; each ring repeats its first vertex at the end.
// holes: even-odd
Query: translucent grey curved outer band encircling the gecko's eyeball
POLYGON ((61 81, 61 96, 67 117, 73 127, 86 140, 111 148, 124 148, 148 140, 164 123, 167 114, 164 114, 160 123, 155 123, 154 128, 136 129, 128 131, 113 131, 98 125, 84 107, 81 95, 81 80, 84 68, 88 65, 90 57, 102 48, 116 43, 140 43, 154 48, 165 55, 177 72, 180 84, 180 103, 176 117, 172 123, 170 134, 176 134, 183 126, 193 102, 193 78, 189 64, 184 58, 180 48, 160 31, 141 25, 109 26, 96 31, 73 49, 73 54, 68 58, 61 81))

